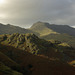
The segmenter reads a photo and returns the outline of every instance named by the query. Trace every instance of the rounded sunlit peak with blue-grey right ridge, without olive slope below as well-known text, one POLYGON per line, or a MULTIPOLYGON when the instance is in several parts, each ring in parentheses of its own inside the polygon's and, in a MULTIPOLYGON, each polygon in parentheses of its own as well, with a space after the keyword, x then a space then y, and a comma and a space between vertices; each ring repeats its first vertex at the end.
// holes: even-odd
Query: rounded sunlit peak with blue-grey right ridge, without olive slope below
POLYGON ((75 36, 75 28, 68 25, 55 25, 46 22, 37 22, 32 25, 30 30, 39 33, 39 36, 46 36, 49 34, 66 33, 75 36))

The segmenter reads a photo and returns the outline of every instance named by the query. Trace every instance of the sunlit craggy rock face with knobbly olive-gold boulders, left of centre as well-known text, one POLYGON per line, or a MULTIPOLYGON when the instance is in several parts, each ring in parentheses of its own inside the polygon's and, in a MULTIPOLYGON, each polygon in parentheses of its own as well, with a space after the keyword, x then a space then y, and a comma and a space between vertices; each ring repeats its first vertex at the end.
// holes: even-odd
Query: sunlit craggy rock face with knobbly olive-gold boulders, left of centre
POLYGON ((1 36, 1 41, 4 44, 9 44, 17 48, 26 50, 29 48, 29 52, 33 54, 38 54, 39 52, 39 41, 40 39, 34 34, 18 34, 14 33, 12 35, 1 36), (8 37, 8 38, 7 38, 8 37))

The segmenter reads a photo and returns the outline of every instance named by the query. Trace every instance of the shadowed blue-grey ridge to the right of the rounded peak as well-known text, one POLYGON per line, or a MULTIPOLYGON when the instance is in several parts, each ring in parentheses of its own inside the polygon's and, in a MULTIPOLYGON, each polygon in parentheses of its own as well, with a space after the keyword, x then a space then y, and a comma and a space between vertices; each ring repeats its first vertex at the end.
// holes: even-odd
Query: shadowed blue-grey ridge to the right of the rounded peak
POLYGON ((66 33, 72 36, 75 36, 75 28, 72 28, 68 25, 55 25, 55 24, 50 24, 46 25, 48 28, 54 30, 55 32, 58 33, 66 33))

